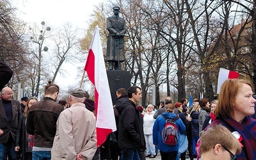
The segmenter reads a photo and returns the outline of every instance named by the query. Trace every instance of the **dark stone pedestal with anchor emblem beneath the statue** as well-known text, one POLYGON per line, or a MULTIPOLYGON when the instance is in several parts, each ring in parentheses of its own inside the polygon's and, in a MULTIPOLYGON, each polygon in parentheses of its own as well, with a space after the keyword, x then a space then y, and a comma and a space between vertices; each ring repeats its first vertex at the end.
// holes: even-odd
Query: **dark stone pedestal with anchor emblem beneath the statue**
POLYGON ((116 104, 116 90, 131 86, 131 74, 126 70, 107 70, 109 89, 113 105, 116 104))

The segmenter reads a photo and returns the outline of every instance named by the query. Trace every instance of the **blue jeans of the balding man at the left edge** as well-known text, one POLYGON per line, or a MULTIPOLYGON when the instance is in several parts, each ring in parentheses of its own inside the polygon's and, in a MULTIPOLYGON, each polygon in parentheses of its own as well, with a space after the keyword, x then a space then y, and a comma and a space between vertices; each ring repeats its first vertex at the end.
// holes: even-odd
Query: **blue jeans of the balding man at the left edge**
POLYGON ((8 150, 8 159, 17 160, 17 154, 15 152, 15 141, 10 136, 7 143, 0 143, 0 160, 4 160, 6 157, 6 149, 8 150))

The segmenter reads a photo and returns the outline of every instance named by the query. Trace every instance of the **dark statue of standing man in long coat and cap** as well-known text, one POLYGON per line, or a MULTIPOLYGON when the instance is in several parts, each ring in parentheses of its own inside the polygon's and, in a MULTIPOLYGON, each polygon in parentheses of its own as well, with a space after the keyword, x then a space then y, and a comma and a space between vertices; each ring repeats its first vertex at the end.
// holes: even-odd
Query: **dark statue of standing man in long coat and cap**
POLYGON ((127 30, 125 20, 119 17, 120 7, 113 8, 114 15, 107 19, 108 44, 106 61, 108 70, 120 70, 120 62, 125 61, 124 57, 124 36, 127 30))

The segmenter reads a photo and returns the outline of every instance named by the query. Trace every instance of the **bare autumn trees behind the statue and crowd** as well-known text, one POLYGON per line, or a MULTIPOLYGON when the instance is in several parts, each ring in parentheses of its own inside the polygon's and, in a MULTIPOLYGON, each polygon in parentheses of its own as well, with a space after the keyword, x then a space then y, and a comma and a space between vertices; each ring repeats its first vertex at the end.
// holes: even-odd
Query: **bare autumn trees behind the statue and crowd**
POLYGON ((77 53, 86 57, 96 25, 106 52, 106 18, 113 14, 113 6, 120 6, 127 24, 122 69, 131 72, 132 84, 141 86, 143 106, 151 102, 154 86, 156 105, 164 96, 178 101, 189 93, 216 99, 220 68, 237 71, 256 86, 253 0, 105 1, 95 6, 81 40, 70 26, 57 32, 48 31, 47 24, 29 28, 28 36, 24 33, 28 26, 15 19, 8 1, 0 5, 1 61, 15 70, 10 84, 24 83, 31 93, 39 92, 45 81, 54 81, 63 63, 74 60, 77 53), (45 55, 47 38, 54 42, 51 55, 45 55))

